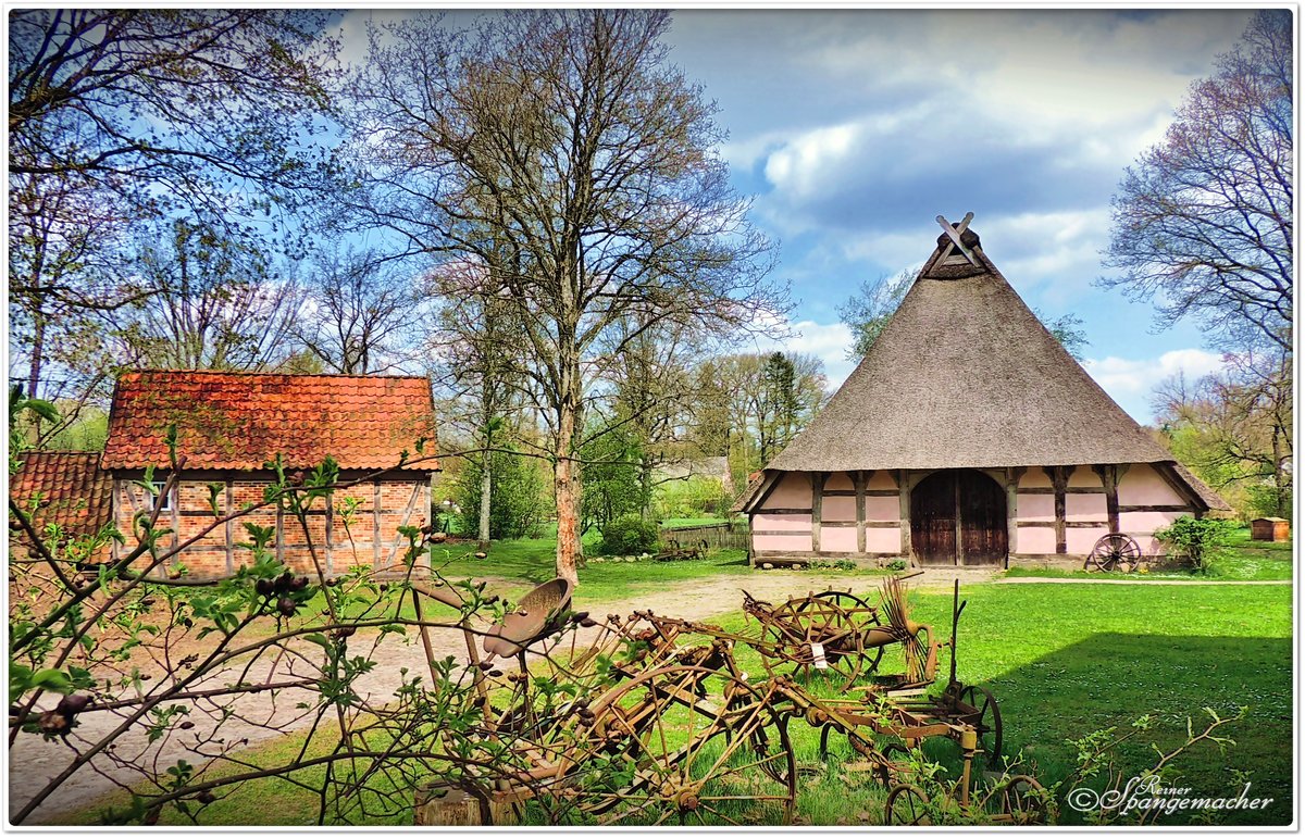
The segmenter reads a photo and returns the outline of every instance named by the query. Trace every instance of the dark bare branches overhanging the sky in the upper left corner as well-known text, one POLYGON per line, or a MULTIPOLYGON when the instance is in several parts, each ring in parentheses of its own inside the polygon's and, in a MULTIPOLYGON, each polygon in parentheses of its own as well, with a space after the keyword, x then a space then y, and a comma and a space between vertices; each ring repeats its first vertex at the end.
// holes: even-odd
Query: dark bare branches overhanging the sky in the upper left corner
MULTIPOLYGON (((334 175, 317 12, 17 9, 9 16, 10 379, 61 426, 104 403, 124 359, 110 313, 147 225, 205 219, 260 249, 334 175)), ((286 240, 290 239, 290 240, 286 240)), ((40 426, 38 442, 55 426, 40 426)))

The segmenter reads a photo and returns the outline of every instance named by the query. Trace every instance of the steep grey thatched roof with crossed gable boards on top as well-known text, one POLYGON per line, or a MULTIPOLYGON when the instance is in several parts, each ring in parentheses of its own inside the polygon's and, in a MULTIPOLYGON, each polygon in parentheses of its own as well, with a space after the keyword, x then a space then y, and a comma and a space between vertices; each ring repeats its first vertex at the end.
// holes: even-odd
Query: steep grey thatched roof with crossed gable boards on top
POLYGON ((829 405, 767 470, 983 469, 1173 459, 988 260, 947 238, 829 405))

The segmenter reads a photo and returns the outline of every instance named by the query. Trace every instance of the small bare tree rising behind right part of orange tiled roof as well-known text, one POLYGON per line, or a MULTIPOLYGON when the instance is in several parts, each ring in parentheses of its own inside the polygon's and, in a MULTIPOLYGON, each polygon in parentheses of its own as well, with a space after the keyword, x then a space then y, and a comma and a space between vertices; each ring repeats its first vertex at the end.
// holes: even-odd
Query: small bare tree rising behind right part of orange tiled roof
POLYGON ((399 368, 411 355, 420 296, 411 277, 371 253, 321 255, 312 262, 295 339, 333 372, 399 368))

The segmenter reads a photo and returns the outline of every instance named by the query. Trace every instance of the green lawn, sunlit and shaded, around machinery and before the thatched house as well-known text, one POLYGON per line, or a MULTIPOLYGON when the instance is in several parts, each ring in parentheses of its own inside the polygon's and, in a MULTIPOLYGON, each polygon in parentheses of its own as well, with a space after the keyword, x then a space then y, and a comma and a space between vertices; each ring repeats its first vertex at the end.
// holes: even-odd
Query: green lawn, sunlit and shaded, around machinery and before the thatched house
MULTIPOLYGON (((671 563, 592 569, 600 570, 595 587, 602 587, 602 573, 619 574, 626 568, 683 572, 676 566, 671 563)), ((607 583, 616 581, 613 576, 607 583)), ((869 580, 856 586, 865 591, 876 587, 869 580)), ((1265 813, 1237 813, 1233 822, 1289 822, 1293 794, 1289 586, 972 585, 962 595, 968 606, 958 642, 959 677, 988 687, 997 696, 1005 719, 1006 753, 1044 782, 1053 783, 1071 770, 1074 752, 1067 741, 1091 731, 1107 727, 1122 731, 1138 717, 1150 715, 1152 730, 1120 752, 1121 765, 1135 771, 1154 762, 1151 741, 1160 747, 1181 741, 1186 719, 1191 717, 1201 723, 1202 707, 1231 715, 1246 706, 1245 721, 1224 728, 1237 745, 1227 753, 1208 744, 1198 745, 1178 762, 1180 784, 1191 787, 1194 794, 1221 796, 1227 794, 1232 770, 1248 770, 1253 795, 1272 796, 1275 803, 1265 813)), ((945 633, 950 594, 917 593, 912 599, 914 616, 945 633)), ((675 611, 672 603, 664 610, 675 611)), ((731 629, 744 628, 743 615, 722 623, 731 629)), ((754 672, 753 677, 763 675, 756 653, 740 651, 739 657, 754 672)), ((891 654, 887 659, 893 659, 891 654)), ((946 670, 944 653, 942 679, 946 670)), ((799 761, 814 764, 817 731, 795 719, 791 732, 799 761)), ((288 736, 253 749, 251 758, 271 764, 300 744, 301 737, 288 736)), ((949 749, 946 741, 930 743, 927 753, 947 761, 954 756, 949 749)), ((797 812, 814 824, 837 822, 838 817, 855 824, 860 812, 872 813, 872 822, 877 822, 882 800, 883 791, 868 777, 847 781, 826 774, 803 786, 797 812)), ((97 808, 104 803, 89 805, 72 820, 95 822, 97 808)), ((179 817, 164 815, 164 822, 170 818, 181 822, 179 817)), ((241 787, 209 807, 205 822, 288 825, 312 822, 315 817, 316 798, 277 779, 241 787)), ((1073 816, 1065 820, 1073 822, 1073 816)))

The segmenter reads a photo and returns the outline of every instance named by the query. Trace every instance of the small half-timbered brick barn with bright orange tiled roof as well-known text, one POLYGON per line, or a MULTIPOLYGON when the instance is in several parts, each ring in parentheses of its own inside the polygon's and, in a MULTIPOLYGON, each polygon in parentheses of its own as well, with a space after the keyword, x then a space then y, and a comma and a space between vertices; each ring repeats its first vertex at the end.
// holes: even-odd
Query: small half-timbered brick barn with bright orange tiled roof
MULTIPOLYGON (((399 465, 435 453, 435 403, 425 379, 401 376, 268 375, 144 371, 123 376, 114 392, 108 441, 99 467, 112 483, 112 517, 123 534, 151 497, 137 483, 153 465, 159 486, 168 476, 167 427, 176 424, 183 471, 159 520, 175 546, 214 522, 210 486, 221 487, 227 514, 264 500, 278 453, 287 471, 309 471, 328 456, 339 463, 339 483, 361 479, 317 501, 308 538, 328 574, 354 565, 390 569, 403 557, 401 526, 431 518, 433 459, 399 465)), ((292 513, 266 508, 227 522, 181 553, 194 577, 219 577, 249 561, 238 547, 249 536, 241 522, 275 527, 277 556, 301 573, 313 572, 304 527, 292 513)))

